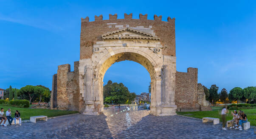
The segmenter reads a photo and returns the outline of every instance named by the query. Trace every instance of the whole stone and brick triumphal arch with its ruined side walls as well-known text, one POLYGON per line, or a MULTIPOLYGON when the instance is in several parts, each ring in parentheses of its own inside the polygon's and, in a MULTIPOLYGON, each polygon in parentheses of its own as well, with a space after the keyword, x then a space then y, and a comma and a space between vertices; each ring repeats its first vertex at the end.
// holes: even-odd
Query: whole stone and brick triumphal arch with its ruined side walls
POLYGON ((208 110, 202 85, 197 84, 197 69, 176 71, 175 19, 148 20, 147 14, 132 19, 132 14, 117 14, 95 21, 82 18, 80 60, 58 66, 53 75, 51 108, 77 110, 83 114, 103 111, 103 78, 118 61, 138 62, 151 78, 151 114, 175 115, 176 111, 208 110), (176 110, 177 109, 177 110, 176 110))

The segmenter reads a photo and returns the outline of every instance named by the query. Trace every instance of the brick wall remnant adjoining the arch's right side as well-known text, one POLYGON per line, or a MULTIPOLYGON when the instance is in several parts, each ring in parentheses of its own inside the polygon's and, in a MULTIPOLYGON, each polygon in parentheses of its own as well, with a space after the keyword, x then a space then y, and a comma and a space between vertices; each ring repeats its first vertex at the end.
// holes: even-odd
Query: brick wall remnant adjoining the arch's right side
POLYGON ((196 111, 197 68, 188 68, 188 72, 176 72, 175 104, 177 111, 196 111))

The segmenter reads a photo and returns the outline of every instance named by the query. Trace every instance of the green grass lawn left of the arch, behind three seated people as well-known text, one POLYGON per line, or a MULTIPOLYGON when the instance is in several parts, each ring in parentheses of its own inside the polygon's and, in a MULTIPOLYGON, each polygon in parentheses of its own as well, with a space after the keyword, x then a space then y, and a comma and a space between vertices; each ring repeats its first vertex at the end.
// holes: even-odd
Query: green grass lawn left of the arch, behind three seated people
POLYGON ((0 108, 4 108, 4 112, 11 108, 11 115, 14 117, 14 113, 16 110, 20 112, 20 116, 22 120, 29 120, 31 116, 48 116, 48 117, 55 117, 60 115, 67 115, 67 114, 75 114, 78 111, 61 111, 61 110, 50 110, 50 109, 36 109, 36 108, 18 108, 14 106, 3 106, 0 105, 0 108))

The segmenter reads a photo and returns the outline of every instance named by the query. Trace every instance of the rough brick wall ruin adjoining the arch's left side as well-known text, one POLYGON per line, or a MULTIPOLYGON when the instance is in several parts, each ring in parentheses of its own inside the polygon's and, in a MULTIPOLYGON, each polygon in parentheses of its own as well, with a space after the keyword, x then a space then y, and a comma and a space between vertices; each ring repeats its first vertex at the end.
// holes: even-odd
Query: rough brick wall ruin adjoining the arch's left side
MULTIPOLYGON (((70 64, 58 66, 57 71, 57 109, 79 110, 79 61, 74 62, 74 71, 70 64)), ((54 103, 54 102, 53 102, 54 103)))

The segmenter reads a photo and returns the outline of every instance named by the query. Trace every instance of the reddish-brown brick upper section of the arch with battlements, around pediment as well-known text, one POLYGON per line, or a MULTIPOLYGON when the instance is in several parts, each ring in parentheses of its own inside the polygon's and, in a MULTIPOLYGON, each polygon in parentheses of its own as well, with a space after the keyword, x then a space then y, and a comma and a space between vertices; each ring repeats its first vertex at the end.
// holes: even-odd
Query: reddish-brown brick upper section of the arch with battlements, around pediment
POLYGON ((117 14, 109 15, 109 20, 103 20, 102 15, 95 16, 95 21, 89 22, 89 17, 82 18, 80 35, 80 59, 91 58, 93 44, 102 41, 102 34, 116 31, 121 28, 145 28, 154 30, 164 46, 162 53, 167 56, 175 54, 175 18, 167 18, 168 22, 161 21, 162 16, 154 15, 154 20, 148 20, 147 14, 140 14, 140 19, 132 19, 132 14, 124 14, 124 19, 117 19, 117 14))

